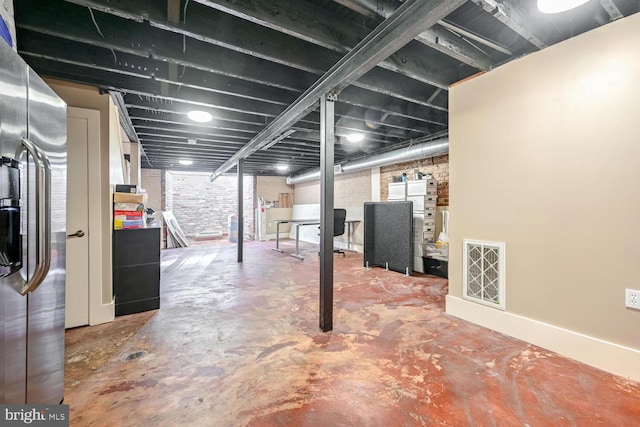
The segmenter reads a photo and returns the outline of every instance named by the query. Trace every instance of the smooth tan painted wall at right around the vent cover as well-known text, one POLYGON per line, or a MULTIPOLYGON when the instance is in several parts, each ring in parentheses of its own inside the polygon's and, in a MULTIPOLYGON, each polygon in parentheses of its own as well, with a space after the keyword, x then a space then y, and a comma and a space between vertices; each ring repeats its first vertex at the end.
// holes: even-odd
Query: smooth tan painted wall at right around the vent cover
POLYGON ((462 239, 505 242, 507 312, 640 349, 624 306, 640 289, 639 27, 620 19, 451 89, 451 296, 462 239))

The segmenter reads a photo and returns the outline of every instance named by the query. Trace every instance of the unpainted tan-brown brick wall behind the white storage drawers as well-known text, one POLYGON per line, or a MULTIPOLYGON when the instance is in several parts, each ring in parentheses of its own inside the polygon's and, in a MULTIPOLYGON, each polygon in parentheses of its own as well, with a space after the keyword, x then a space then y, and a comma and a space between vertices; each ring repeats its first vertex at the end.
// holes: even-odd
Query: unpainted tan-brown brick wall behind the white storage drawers
POLYGON ((386 201, 389 197, 389 183, 393 182, 393 176, 407 174, 408 179, 413 179, 413 169, 422 173, 430 173, 438 181, 438 206, 449 206, 449 155, 431 157, 428 159, 414 160, 405 163, 382 166, 380 168, 380 200, 386 201))

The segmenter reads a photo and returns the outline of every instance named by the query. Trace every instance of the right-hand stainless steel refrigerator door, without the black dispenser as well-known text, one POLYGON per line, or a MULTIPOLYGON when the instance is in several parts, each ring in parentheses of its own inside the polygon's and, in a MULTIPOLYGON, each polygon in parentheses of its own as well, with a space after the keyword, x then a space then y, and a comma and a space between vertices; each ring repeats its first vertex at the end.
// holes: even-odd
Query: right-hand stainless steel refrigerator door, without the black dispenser
MULTIPOLYGON (((56 404, 63 399, 64 386, 67 113, 66 104, 35 72, 29 70, 28 78, 28 138, 44 151, 51 164, 51 182, 47 190, 50 191, 51 200, 51 258, 48 275, 40 286, 27 295, 26 401, 56 404)), ((30 209, 30 222, 33 217, 30 209)), ((30 265, 33 264, 33 244, 34 236, 29 236, 30 265)))

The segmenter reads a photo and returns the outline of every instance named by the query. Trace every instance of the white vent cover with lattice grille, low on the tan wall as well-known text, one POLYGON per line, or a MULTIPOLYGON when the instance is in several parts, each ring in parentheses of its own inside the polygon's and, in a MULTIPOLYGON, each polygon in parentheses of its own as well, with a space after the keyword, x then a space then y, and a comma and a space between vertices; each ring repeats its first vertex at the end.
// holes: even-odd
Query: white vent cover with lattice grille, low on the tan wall
POLYGON ((463 298, 505 309, 505 244, 463 240, 463 298))

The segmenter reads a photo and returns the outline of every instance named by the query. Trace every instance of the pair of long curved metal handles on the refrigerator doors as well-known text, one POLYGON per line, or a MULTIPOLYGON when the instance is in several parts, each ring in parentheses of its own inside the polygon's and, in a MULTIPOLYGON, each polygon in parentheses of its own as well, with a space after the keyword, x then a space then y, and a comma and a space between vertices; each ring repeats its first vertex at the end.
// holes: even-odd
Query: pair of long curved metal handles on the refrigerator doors
POLYGON ((33 158, 36 182, 36 265, 31 278, 21 286, 20 293, 26 295, 40 286, 51 266, 51 163, 29 139, 22 138, 22 146, 33 158))

